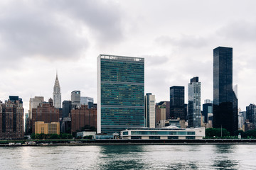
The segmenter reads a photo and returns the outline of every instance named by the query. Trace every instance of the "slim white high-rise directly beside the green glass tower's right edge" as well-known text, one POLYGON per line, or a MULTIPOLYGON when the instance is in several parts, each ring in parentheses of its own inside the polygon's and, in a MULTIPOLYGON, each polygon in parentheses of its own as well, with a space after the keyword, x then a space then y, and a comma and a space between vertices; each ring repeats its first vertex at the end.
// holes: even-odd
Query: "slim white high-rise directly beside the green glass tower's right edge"
POLYGON ((156 128, 156 98, 152 94, 145 96, 145 126, 148 128, 156 128))

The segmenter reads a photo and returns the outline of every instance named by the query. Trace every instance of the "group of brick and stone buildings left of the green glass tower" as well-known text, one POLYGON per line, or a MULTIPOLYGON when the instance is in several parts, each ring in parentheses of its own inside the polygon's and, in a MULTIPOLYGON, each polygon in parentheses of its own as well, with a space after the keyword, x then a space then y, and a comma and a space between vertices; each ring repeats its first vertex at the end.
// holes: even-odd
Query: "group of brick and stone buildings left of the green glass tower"
POLYGON ((53 98, 48 102, 43 96, 29 100, 28 113, 23 111, 23 102, 18 96, 9 96, 0 102, 0 139, 22 139, 32 133, 60 134, 97 128, 97 105, 93 98, 80 96, 80 91, 71 92, 71 100, 61 105, 60 82, 56 74, 53 98))

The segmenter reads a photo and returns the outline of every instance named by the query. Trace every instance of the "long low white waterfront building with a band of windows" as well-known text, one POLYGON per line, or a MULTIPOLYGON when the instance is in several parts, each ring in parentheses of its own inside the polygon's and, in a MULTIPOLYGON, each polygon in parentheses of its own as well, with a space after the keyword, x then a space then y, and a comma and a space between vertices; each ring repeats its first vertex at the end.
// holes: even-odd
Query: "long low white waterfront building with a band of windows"
POLYGON ((205 128, 181 129, 176 126, 166 128, 127 128, 127 130, 121 131, 121 138, 128 140, 202 140, 205 136, 205 128))

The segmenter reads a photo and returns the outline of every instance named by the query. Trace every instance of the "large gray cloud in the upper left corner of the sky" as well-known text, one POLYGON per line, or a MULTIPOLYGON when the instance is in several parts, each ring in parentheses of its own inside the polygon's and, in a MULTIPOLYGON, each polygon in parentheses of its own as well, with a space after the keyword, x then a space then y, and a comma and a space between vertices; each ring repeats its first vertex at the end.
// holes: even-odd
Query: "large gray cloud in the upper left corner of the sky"
POLYGON ((78 57, 80 50, 87 47, 85 38, 75 36, 74 30, 58 21, 46 7, 29 6, 25 1, 17 3, 0 8, 4 13, 0 16, 1 44, 4 44, 0 46, 1 57, 58 60, 78 57))

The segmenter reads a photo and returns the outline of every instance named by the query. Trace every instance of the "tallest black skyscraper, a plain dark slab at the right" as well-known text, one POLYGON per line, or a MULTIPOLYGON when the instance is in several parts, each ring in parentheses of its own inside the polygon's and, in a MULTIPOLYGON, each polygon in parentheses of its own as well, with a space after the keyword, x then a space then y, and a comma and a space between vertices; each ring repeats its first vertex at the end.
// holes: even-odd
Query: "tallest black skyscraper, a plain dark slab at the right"
POLYGON ((213 127, 238 130, 238 98, 233 91, 233 49, 213 50, 213 127))

